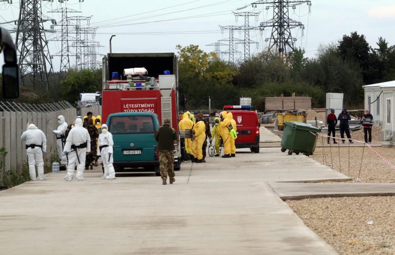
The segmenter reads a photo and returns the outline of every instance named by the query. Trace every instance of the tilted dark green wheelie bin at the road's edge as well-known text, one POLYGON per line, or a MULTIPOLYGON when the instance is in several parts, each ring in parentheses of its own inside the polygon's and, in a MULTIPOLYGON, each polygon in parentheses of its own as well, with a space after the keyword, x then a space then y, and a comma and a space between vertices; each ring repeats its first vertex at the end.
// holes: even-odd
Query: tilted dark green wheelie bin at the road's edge
POLYGON ((321 132, 320 128, 302 122, 285 122, 284 132, 281 139, 281 151, 288 150, 288 154, 312 155, 317 144, 316 133, 321 132))

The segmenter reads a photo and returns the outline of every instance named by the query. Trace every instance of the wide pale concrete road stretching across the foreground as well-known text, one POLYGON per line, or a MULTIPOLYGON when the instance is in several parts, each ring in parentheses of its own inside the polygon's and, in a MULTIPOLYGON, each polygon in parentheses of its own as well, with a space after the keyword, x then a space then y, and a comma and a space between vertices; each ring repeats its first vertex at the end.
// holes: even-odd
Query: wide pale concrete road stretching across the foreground
POLYGON ((279 148, 152 173, 66 182, 65 173, 0 192, 1 254, 337 254, 267 185, 347 180, 279 148))

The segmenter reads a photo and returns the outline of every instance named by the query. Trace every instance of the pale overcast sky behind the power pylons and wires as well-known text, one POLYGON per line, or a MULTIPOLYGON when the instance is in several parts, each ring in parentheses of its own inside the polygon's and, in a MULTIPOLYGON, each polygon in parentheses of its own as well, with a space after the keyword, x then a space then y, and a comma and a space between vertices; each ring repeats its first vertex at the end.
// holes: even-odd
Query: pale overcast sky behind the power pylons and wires
MULTIPOLYGON (((50 9, 68 7, 81 13, 71 15, 91 16, 91 27, 98 27, 93 39, 100 43, 98 51, 101 54, 109 52, 109 39, 112 34, 113 53, 129 52, 175 52, 175 46, 181 44, 199 45, 205 51, 213 51, 214 47, 207 44, 228 38, 227 31, 222 33, 219 25, 242 26, 244 18, 236 21, 232 11, 247 6, 240 11, 260 11, 257 17, 250 17, 250 26, 258 26, 260 22, 273 17, 273 8, 266 10, 266 5, 252 8, 253 1, 245 0, 69 0, 65 4, 43 3, 43 13, 55 18, 60 24, 58 13, 47 13, 50 9)), ((266 1, 262 1, 266 2, 266 1)), ((0 3, 0 23, 18 18, 19 1, 13 1, 12 6, 0 3)), ((69 14, 70 15, 70 14, 69 14)), ((70 16, 71 16, 70 15, 70 16)), ((393 0, 313 0, 311 12, 304 3, 296 9, 290 8, 290 17, 304 25, 304 31, 293 29, 292 35, 297 38, 296 47, 306 50, 306 56, 313 57, 320 44, 337 42, 344 34, 357 31, 364 34, 368 43, 375 47, 380 36, 390 45, 395 44, 395 1, 393 0)), ((12 28, 10 25, 2 25, 12 28)), ((45 23, 49 29, 50 22, 45 23)), ((56 27, 55 29, 60 29, 56 27)), ((271 30, 264 32, 252 31, 250 39, 258 42, 259 48, 251 45, 251 52, 262 51, 267 43, 271 30)), ((244 34, 235 31, 235 37, 244 38, 244 34)), ((15 37, 15 34, 13 34, 15 37)), ((48 33, 47 38, 55 34, 48 33)), ((60 43, 50 42, 50 54, 60 50, 60 43)), ((221 50, 226 50, 222 46, 221 50)), ((243 51, 239 45, 237 50, 243 51)), ((100 60, 101 57, 98 57, 100 60)), ((54 56, 53 65, 59 70, 60 57, 54 56)))

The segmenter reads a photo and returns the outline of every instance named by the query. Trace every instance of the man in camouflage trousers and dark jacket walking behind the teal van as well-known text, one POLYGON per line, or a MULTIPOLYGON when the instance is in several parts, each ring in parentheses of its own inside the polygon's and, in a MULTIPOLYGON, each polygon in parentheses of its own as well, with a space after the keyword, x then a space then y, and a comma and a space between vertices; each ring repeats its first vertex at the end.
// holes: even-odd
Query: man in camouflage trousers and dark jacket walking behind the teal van
POLYGON ((159 151, 159 168, 162 184, 166 185, 167 175, 169 175, 170 184, 175 182, 174 179, 174 144, 178 144, 175 130, 170 127, 170 119, 165 119, 163 126, 156 130, 154 139, 158 142, 159 151))

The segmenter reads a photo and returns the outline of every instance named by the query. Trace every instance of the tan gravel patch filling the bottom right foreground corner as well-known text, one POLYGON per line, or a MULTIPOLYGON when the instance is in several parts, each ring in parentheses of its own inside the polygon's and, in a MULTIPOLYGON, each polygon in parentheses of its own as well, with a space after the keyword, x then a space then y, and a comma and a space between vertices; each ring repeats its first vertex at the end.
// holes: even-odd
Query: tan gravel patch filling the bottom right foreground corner
POLYGON ((342 255, 395 254, 395 197, 286 201, 342 255))

